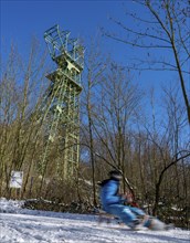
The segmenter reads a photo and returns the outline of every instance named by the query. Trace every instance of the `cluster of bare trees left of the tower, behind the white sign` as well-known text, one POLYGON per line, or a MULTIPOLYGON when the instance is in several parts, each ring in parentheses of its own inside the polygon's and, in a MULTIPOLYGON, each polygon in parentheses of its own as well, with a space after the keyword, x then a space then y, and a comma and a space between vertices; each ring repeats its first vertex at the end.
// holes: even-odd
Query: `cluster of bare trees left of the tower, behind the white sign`
MULTIPOLYGON (((41 87, 44 80, 44 64, 45 54, 39 51, 35 39, 32 40, 28 60, 21 57, 12 45, 8 60, 2 63, 0 166, 1 189, 7 196, 10 192, 9 182, 12 170, 23 170, 24 181, 28 181, 28 177, 31 176, 28 169, 31 168, 33 136, 38 129, 34 117, 31 118, 31 115, 43 93, 41 87)), ((25 182, 23 191, 24 188, 25 182)))

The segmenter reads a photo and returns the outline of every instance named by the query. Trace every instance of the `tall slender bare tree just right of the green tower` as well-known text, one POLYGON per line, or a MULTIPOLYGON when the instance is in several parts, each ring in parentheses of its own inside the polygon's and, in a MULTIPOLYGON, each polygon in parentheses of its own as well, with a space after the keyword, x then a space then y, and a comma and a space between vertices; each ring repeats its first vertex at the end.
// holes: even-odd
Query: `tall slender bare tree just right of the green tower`
MULTIPOLYGON (((99 40, 92 39, 91 40, 91 46, 86 52, 86 76, 85 81, 83 82, 83 88, 84 88, 84 95, 83 95, 83 115, 84 119, 87 119, 86 127, 87 129, 87 137, 85 139, 87 147, 89 148, 89 157, 91 157, 91 163, 92 163, 92 178, 93 178, 93 202, 94 205, 97 205, 97 199, 96 199, 96 178, 95 178, 95 150, 94 150, 94 129, 93 129, 93 113, 94 113, 94 106, 97 102, 97 94, 98 87, 102 82, 102 76, 105 71, 106 64, 105 64, 105 57, 103 57, 103 54, 101 52, 101 45, 99 40), (86 117, 86 118, 85 118, 86 117)), ((84 134, 83 134, 84 135, 84 134)))

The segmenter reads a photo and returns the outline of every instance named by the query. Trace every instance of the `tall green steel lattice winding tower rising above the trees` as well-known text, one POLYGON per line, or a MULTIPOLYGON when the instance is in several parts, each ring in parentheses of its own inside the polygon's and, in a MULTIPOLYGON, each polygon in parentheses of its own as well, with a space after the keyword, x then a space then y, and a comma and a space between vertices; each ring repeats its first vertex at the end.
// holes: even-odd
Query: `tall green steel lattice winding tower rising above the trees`
POLYGON ((84 49, 77 39, 70 39, 70 32, 61 31, 59 25, 46 30, 44 39, 57 68, 46 76, 51 85, 46 97, 50 105, 45 127, 48 139, 42 156, 43 172, 54 148, 54 155, 60 154, 59 158, 57 155, 52 158, 56 160, 56 173, 67 179, 77 168, 80 158, 80 94, 84 49))

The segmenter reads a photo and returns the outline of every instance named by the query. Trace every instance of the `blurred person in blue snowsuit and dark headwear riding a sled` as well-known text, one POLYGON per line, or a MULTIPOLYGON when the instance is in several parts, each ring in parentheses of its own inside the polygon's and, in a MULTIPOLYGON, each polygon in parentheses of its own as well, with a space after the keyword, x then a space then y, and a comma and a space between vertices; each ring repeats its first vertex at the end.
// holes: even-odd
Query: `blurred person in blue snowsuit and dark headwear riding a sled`
POLYGON ((140 221, 139 216, 146 216, 146 213, 136 207, 125 205, 124 202, 131 203, 131 197, 119 194, 119 183, 123 176, 119 171, 109 172, 109 179, 101 183, 101 202, 103 210, 116 215, 131 229, 136 228, 140 221), (138 216, 137 216, 138 215, 138 216))

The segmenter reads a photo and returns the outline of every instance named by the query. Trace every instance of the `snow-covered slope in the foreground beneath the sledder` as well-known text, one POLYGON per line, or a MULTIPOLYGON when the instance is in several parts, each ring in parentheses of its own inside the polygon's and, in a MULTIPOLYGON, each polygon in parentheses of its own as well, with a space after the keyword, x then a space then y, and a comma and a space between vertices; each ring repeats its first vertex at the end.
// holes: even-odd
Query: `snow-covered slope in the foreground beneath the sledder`
POLYGON ((0 199, 1 243, 189 243, 190 231, 130 231, 97 223, 96 215, 22 209, 23 202, 0 199))

